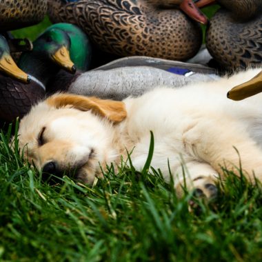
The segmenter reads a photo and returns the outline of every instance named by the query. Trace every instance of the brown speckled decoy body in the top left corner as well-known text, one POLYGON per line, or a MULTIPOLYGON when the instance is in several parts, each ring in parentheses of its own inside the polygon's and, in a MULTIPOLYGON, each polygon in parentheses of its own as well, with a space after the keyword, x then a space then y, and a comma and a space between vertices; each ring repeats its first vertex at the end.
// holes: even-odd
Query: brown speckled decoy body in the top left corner
POLYGON ((1 0, 1 31, 9 31, 39 23, 48 10, 48 0, 1 0))

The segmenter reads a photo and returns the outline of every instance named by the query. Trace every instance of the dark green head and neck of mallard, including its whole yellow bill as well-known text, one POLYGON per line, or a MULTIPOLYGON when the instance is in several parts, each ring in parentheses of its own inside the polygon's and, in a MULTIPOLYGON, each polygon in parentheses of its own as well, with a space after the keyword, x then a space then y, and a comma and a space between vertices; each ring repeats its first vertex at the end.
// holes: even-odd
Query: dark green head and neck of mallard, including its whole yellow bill
POLYGON ((76 68, 70 59, 70 38, 59 28, 43 32, 33 42, 32 51, 24 52, 19 59, 19 67, 46 86, 48 80, 60 68, 74 73, 76 68))

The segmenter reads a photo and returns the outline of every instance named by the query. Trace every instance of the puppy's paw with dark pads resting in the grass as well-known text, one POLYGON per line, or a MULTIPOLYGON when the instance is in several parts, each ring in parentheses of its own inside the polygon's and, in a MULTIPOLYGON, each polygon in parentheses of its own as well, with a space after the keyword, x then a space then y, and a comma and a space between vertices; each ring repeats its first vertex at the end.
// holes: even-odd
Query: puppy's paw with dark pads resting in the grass
POLYGON ((208 163, 190 161, 181 165, 175 177, 178 177, 178 183, 175 185, 179 197, 183 195, 185 189, 194 191, 196 196, 205 196, 208 199, 216 197, 215 181, 219 174, 208 163))

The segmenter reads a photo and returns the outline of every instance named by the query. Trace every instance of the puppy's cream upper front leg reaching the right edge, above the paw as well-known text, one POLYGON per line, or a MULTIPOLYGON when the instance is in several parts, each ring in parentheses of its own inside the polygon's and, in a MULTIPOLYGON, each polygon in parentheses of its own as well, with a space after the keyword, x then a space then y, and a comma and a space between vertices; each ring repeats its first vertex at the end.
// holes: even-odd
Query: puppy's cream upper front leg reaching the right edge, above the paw
POLYGON ((199 121, 182 139, 190 155, 209 163, 216 172, 222 173, 224 166, 239 174, 241 163, 245 177, 254 182, 254 173, 262 181, 262 150, 241 123, 225 117, 220 121, 199 121))

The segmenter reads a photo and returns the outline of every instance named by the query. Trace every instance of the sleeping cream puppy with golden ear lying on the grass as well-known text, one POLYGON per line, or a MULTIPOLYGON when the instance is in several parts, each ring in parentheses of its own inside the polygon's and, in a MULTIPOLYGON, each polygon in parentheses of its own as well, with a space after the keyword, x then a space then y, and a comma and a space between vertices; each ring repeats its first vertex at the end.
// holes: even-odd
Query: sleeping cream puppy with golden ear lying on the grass
POLYGON ((127 152, 134 168, 143 168, 152 130, 152 167, 166 181, 171 170, 178 194, 185 176, 188 190, 211 197, 221 166, 239 174, 239 155, 245 176, 254 182, 254 172, 262 179, 262 95, 239 102, 226 97, 260 70, 183 88, 161 87, 124 101, 54 94, 21 120, 19 147, 43 172, 74 170, 79 181, 93 183, 101 167, 119 164, 127 152))

